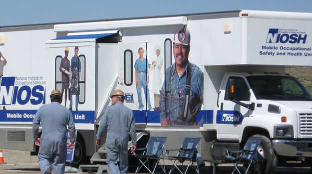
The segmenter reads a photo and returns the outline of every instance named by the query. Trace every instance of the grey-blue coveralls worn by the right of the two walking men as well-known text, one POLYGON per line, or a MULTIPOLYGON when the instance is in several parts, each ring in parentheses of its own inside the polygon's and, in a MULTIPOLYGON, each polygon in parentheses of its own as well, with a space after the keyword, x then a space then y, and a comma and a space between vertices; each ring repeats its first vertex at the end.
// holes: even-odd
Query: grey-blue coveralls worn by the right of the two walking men
POLYGON ((122 102, 109 106, 102 114, 96 140, 101 140, 103 131, 107 130, 106 152, 109 174, 128 173, 128 142, 136 145, 135 121, 131 109, 122 102), (118 167, 118 159, 120 166, 118 167))

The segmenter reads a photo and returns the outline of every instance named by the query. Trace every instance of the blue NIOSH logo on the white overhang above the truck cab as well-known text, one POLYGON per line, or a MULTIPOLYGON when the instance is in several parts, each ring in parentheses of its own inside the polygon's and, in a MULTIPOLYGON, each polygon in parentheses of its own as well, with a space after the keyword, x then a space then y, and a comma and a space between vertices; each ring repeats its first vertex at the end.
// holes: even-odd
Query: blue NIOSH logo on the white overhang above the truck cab
POLYGON ((300 32, 296 31, 270 28, 267 36, 267 43, 306 43, 308 34, 299 33, 300 32))

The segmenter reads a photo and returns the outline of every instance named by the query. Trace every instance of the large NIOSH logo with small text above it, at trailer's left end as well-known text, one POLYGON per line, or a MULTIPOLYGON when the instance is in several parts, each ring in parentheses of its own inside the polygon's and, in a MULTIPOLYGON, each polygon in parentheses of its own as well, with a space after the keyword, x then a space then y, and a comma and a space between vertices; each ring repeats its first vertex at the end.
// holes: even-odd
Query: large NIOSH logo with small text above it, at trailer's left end
POLYGON ((42 76, 2 77, 0 105, 45 104, 45 81, 42 76))

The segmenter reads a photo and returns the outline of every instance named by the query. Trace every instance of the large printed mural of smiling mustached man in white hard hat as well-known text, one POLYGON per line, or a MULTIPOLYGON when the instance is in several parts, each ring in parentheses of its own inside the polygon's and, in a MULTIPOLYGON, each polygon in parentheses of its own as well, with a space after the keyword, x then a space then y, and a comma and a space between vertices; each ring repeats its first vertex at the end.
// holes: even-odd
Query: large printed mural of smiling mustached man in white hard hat
POLYGON ((196 116, 203 103, 203 72, 189 61, 189 30, 179 30, 173 40, 175 63, 166 69, 160 90, 161 125, 197 126, 196 116))

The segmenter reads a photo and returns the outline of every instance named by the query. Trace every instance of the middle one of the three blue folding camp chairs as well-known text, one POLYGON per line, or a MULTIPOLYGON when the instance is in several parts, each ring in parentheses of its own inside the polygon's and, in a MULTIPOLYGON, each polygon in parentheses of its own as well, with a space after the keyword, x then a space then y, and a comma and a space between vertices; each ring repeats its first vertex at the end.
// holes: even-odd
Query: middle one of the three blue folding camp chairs
MULTIPOLYGON (((197 162, 197 159, 200 157, 197 152, 197 147, 199 144, 200 138, 185 138, 180 149, 172 149, 166 150, 166 155, 169 160, 173 161, 173 167, 170 169, 169 174, 171 174, 175 169, 177 169, 181 174, 186 174, 190 167, 193 167, 194 163, 197 162), (170 151, 179 151, 177 156, 168 156, 170 151), (184 162, 188 161, 188 165, 185 169, 184 162), (179 163, 182 164, 181 168, 185 170, 179 169, 177 166, 179 163), (184 173, 182 172, 184 171, 184 173)), ((203 163, 203 161, 201 161, 203 163)), ((196 165, 196 172, 199 174, 199 163, 196 165)))

